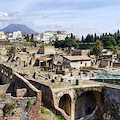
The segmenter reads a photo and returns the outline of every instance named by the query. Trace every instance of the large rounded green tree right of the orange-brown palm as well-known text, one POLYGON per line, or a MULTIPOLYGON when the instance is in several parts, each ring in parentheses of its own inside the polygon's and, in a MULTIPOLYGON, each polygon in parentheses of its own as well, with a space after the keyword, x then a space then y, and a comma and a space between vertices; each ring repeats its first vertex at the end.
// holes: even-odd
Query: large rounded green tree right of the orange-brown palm
POLYGON ((113 36, 104 36, 102 42, 104 48, 112 51, 114 50, 114 46, 117 44, 113 36))

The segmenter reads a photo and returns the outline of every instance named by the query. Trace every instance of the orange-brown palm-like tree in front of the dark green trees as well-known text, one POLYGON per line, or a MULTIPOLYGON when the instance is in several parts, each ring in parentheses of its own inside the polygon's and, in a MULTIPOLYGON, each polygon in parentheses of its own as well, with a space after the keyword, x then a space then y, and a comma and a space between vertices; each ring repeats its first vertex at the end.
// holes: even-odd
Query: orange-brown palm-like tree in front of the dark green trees
POLYGON ((95 46, 93 47, 93 54, 96 56, 96 58, 102 54, 102 49, 103 47, 101 45, 101 42, 97 40, 95 42, 95 46))

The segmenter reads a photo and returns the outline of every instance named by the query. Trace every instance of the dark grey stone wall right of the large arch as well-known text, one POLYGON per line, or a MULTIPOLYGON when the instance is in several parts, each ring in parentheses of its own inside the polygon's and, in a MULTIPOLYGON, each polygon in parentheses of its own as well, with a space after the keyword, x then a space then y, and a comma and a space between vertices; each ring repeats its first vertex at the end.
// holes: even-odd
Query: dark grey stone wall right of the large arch
POLYGON ((105 87, 104 119, 120 120, 120 88, 105 87))

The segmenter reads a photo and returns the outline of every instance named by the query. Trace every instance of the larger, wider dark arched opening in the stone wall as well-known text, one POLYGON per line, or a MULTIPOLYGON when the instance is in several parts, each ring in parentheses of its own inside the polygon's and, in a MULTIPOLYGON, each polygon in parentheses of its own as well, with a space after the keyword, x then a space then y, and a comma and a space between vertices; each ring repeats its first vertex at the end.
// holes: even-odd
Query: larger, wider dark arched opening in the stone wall
MULTIPOLYGON (((98 91, 86 91, 77 97, 75 102, 75 120, 95 112, 96 107, 102 108, 102 95, 98 91)), ((97 116, 99 117, 99 116, 97 116)))

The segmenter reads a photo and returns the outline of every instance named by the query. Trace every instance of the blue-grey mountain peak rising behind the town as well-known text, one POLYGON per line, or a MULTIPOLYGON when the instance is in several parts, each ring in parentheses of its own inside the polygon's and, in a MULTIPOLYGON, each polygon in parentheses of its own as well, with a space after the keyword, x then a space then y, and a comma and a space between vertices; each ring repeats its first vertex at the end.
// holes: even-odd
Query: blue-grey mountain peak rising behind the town
POLYGON ((22 25, 22 24, 10 24, 7 27, 1 29, 0 31, 9 33, 9 32, 14 32, 14 31, 18 31, 18 30, 21 31, 22 34, 36 34, 37 33, 34 30, 32 30, 31 28, 27 27, 26 25, 22 25))

